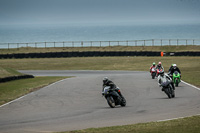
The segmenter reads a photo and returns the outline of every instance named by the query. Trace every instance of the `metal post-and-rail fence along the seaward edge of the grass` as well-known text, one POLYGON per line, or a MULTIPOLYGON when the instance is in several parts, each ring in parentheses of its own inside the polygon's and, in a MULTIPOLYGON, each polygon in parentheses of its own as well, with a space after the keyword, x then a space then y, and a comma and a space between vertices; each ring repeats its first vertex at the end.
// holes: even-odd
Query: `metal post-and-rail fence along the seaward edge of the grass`
POLYGON ((21 47, 106 47, 106 46, 179 46, 200 45, 200 39, 149 39, 127 41, 63 41, 63 42, 32 42, 32 43, 0 43, 0 49, 21 47))

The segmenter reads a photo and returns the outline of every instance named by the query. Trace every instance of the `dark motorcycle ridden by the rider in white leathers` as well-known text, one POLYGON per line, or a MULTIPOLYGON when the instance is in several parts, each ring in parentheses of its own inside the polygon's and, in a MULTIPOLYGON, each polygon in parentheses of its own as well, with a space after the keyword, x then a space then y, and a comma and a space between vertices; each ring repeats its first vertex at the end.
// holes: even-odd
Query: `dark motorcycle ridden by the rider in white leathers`
POLYGON ((166 82, 161 83, 161 87, 169 98, 175 97, 175 92, 170 81, 167 80, 166 82))

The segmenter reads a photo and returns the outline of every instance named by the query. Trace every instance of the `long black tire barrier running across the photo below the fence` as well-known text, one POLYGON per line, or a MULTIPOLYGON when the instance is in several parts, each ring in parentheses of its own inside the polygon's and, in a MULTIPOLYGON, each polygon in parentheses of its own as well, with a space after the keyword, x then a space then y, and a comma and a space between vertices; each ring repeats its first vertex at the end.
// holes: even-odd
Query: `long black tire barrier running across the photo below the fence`
MULTIPOLYGON (((60 58, 60 57, 102 57, 102 56, 160 56, 153 51, 85 51, 0 54, 0 59, 11 58, 60 58)), ((200 52, 165 52, 164 56, 200 56, 200 52)))

